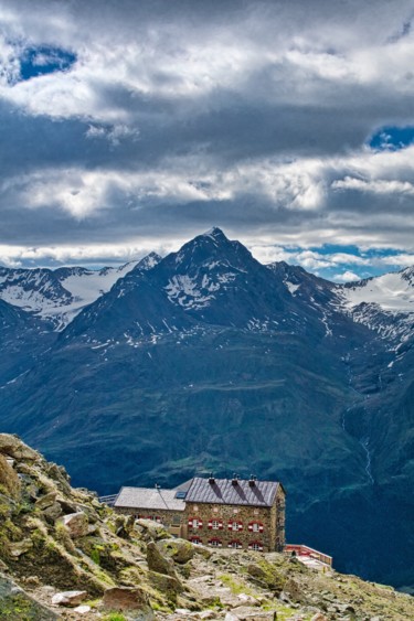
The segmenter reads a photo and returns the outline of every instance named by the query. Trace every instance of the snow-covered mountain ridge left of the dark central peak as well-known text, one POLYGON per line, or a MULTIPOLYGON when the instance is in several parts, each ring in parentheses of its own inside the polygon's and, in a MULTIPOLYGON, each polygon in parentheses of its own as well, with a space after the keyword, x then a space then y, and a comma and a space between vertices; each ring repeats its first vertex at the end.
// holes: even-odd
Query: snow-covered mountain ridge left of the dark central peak
POLYGON ((135 269, 150 269, 159 260, 160 257, 151 253, 139 261, 100 270, 0 267, 0 299, 52 322, 56 331, 62 331, 85 306, 109 291, 119 278, 135 269))

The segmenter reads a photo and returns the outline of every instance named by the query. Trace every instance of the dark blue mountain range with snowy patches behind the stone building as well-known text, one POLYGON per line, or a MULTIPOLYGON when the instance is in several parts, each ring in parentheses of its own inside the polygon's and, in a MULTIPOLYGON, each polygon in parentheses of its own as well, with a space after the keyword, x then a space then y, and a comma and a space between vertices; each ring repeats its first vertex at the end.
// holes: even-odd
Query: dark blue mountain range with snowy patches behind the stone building
POLYGON ((0 269, 2 430, 75 484, 283 481, 287 536, 414 583, 414 268, 335 285, 219 228, 123 268, 0 269))

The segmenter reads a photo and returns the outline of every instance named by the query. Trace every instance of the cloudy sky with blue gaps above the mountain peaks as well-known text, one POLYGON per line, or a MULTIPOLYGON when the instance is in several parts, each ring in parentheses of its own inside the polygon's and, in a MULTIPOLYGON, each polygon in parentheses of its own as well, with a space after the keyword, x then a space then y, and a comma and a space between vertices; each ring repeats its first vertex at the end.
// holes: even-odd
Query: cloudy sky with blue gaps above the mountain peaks
POLYGON ((413 0, 0 0, 0 263, 123 263, 216 225, 338 281, 413 265, 413 0))

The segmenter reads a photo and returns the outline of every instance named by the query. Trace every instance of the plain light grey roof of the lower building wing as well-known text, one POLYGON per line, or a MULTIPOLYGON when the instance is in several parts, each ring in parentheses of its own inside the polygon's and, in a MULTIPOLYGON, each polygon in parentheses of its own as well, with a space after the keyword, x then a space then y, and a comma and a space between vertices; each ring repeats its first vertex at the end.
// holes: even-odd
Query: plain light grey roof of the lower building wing
POLYGON ((184 511, 184 501, 177 499, 176 494, 177 490, 160 488, 121 488, 114 506, 148 511, 184 511))

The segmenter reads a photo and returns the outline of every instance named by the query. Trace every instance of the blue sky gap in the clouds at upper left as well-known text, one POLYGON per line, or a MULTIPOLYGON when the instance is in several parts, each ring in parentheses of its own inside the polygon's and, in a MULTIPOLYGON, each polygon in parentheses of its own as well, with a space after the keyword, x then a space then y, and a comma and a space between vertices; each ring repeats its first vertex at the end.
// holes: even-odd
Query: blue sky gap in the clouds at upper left
POLYGON ((26 81, 40 75, 67 71, 75 61, 76 54, 60 47, 47 45, 28 47, 20 57, 20 78, 26 81))

